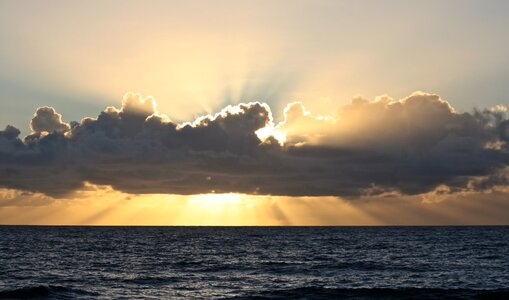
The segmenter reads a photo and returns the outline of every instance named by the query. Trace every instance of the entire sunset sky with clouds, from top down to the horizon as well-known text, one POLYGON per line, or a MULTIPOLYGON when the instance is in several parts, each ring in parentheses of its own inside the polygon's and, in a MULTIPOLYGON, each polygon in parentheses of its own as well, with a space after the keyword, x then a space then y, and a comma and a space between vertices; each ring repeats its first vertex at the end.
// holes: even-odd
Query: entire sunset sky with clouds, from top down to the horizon
POLYGON ((509 224, 508 12, 0 0, 0 224, 509 224))

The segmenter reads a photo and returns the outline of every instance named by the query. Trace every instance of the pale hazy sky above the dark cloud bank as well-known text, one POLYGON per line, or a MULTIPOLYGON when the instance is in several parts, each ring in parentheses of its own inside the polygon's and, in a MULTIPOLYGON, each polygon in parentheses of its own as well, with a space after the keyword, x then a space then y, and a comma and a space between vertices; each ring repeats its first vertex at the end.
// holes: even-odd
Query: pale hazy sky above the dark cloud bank
MULTIPOLYGON (((127 91, 188 120, 224 103, 413 91, 508 101, 507 1, 0 1, 0 117, 93 115, 127 91)), ((280 104, 282 103, 282 104, 280 104)))

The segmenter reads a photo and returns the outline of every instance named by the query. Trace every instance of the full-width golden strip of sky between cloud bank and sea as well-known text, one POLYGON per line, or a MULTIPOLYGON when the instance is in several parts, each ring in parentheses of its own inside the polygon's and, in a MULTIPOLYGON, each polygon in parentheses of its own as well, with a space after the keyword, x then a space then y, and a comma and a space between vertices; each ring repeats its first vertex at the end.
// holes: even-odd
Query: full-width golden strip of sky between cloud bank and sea
POLYGON ((0 191, 0 219, 4 224, 143 226, 387 225, 394 220, 400 225, 465 220, 488 224, 505 220, 503 193, 483 196, 481 205, 475 195, 430 203, 420 196, 348 201, 236 193, 129 195, 94 185, 88 189, 71 199, 37 194, 19 199, 13 190, 0 191), (9 198, 18 202, 9 202, 9 198))

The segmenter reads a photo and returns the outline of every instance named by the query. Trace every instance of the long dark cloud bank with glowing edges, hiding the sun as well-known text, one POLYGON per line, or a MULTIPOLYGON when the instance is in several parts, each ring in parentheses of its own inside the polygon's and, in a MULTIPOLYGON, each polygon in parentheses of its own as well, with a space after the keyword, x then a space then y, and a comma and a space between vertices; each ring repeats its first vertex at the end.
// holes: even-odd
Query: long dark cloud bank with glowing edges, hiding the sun
POLYGON ((503 106, 458 113, 416 92, 400 101, 357 97, 330 116, 294 102, 279 124, 259 102, 178 124, 153 98, 128 93, 120 109, 70 125, 38 109, 24 141, 12 126, 0 131, 0 186, 53 197, 86 183, 133 194, 347 198, 485 190, 507 185, 505 114, 503 106))

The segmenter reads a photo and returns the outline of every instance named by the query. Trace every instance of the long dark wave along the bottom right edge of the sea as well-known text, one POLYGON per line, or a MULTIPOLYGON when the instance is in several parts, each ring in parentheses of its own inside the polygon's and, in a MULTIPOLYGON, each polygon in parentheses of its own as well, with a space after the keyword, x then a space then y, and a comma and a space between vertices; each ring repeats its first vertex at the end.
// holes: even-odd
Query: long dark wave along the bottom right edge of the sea
POLYGON ((303 287, 253 293, 227 299, 509 299, 509 289, 438 289, 438 288, 320 288, 303 287))

